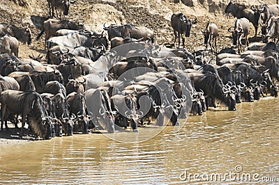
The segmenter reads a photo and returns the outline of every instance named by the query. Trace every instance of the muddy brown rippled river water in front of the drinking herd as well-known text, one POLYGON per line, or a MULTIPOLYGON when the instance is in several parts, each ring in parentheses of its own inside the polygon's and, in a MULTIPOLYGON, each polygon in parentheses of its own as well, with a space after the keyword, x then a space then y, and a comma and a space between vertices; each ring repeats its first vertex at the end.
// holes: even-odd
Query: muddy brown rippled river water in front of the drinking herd
MULTIPOLYGON (((276 184, 278 108, 279 98, 266 98, 237 111, 207 111, 142 143, 75 134, 0 145, 0 184, 243 184, 249 177, 276 184)), ((136 133, 122 134, 128 140, 136 133)))

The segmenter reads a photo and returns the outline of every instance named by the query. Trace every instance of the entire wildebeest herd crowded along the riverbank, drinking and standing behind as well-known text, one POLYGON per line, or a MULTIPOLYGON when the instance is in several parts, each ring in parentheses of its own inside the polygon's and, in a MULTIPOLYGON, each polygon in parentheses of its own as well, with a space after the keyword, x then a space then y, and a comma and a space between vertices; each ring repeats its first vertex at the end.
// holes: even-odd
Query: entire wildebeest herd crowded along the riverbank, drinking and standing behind
POLYGON ((278 96, 278 4, 247 7, 231 0, 225 13, 237 18, 228 29, 237 51, 218 52, 218 25, 208 22, 201 31, 205 50, 209 44, 216 55, 212 62, 204 57, 207 51, 184 49, 191 26, 199 24, 195 16, 172 15, 174 45, 179 40, 172 49, 157 45, 153 31, 144 26, 114 22, 103 24, 102 33, 88 31, 82 22, 62 19, 70 1, 47 1, 50 18, 37 36, 45 33, 45 59, 18 56, 19 41, 31 44, 28 27, 0 24, 1 131, 8 131, 7 122, 16 128, 21 122, 20 137, 25 123, 45 139, 91 129, 137 132, 152 121, 179 124, 210 106, 224 104, 235 111, 242 101, 278 96), (61 19, 52 19, 54 9, 61 11, 61 19), (263 42, 248 43, 250 22, 255 36, 261 26, 263 42))

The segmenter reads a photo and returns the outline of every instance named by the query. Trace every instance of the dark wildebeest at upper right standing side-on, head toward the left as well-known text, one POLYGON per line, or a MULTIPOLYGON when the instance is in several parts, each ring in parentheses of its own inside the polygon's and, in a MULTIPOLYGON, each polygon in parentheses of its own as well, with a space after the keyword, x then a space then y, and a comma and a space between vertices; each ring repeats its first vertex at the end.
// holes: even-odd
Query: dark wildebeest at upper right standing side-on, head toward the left
POLYGON ((225 9, 225 13, 232 13, 237 19, 245 17, 251 22, 255 28, 255 36, 257 36, 257 28, 259 26, 259 10, 255 6, 248 8, 241 3, 233 3, 232 0, 229 1, 225 9))

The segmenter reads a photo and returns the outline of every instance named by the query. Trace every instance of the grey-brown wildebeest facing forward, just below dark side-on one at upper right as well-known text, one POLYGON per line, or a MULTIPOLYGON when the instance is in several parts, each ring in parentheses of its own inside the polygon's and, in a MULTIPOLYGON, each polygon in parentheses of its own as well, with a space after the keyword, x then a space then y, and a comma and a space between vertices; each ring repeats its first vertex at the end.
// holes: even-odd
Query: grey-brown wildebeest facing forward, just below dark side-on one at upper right
POLYGON ((248 46, 249 20, 246 18, 237 19, 234 24, 234 30, 228 29, 232 33, 233 44, 239 47, 239 52, 242 52, 241 39, 245 39, 245 45, 248 46))

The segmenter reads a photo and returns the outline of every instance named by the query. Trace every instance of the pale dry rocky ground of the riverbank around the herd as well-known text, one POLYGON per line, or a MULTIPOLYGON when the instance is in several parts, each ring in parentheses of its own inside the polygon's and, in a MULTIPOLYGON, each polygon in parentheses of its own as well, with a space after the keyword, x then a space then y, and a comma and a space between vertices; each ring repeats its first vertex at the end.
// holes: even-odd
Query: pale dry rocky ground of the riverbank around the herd
MULTIPOLYGON (((103 24, 131 23, 135 26, 146 26, 155 33, 155 40, 160 45, 172 44, 174 34, 170 26, 170 17, 172 13, 181 11, 182 13, 197 17, 197 24, 191 30, 190 38, 186 38, 186 49, 197 51, 204 49, 204 36, 202 29, 206 22, 213 22, 218 25, 218 51, 225 47, 230 47, 232 39, 227 31, 229 27, 234 26, 234 18, 225 15, 225 7, 229 0, 75 0, 70 5, 69 15, 65 19, 83 21, 86 29, 102 32, 103 24), (174 1, 178 3, 174 3, 174 1), (186 6, 187 5, 187 6, 186 6)), ((248 5, 258 5, 262 1, 238 1, 248 5)), ((264 1, 268 4, 276 1, 264 1)), ((37 0, 0 0, 0 22, 10 22, 17 26, 29 25, 33 33, 33 44, 31 46, 20 45, 20 57, 28 58, 29 55, 43 54, 44 35, 40 40, 36 36, 40 33, 40 27, 43 21, 47 19, 49 9, 47 1, 37 0)), ((250 25, 250 38, 255 31, 250 25)), ((13 126, 10 126, 13 127, 13 126)), ((18 131, 12 130, 12 134, 0 134, 0 145, 10 143, 20 143, 26 140, 35 140, 31 135, 24 136, 23 140, 11 139, 18 138, 18 131)))

